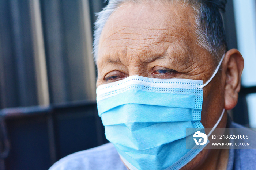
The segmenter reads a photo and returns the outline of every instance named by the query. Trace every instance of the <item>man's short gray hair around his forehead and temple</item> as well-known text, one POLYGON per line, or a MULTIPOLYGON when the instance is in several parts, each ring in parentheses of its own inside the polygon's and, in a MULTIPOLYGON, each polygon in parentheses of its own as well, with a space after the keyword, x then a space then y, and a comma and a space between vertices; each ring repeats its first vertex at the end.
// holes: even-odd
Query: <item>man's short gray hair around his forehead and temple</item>
MULTIPOLYGON (((125 2, 139 3, 146 0, 109 0, 108 5, 97 13, 94 26, 93 53, 97 63, 99 38, 109 16, 125 2)), ((197 44, 206 49, 218 62, 227 51, 227 42, 221 12, 225 11, 226 0, 154 0, 189 5, 196 12, 195 23, 197 44)))

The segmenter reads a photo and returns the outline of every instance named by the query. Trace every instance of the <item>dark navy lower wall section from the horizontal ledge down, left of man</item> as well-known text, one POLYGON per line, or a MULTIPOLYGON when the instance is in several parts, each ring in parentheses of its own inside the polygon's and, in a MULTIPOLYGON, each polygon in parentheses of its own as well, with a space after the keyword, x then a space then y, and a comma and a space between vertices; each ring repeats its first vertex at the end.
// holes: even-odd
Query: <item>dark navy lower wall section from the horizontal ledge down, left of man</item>
POLYGON ((48 169, 68 154, 108 142, 95 101, 2 109, 0 127, 1 170, 48 169))

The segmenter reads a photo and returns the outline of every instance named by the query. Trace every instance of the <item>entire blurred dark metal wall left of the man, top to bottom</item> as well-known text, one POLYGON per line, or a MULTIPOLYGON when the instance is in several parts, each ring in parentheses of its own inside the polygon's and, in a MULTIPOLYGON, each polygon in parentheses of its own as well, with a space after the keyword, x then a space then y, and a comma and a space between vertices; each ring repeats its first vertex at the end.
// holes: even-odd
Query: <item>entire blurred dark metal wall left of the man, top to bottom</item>
POLYGON ((95 104, 103 0, 0 0, 0 170, 45 170, 106 143, 95 104))

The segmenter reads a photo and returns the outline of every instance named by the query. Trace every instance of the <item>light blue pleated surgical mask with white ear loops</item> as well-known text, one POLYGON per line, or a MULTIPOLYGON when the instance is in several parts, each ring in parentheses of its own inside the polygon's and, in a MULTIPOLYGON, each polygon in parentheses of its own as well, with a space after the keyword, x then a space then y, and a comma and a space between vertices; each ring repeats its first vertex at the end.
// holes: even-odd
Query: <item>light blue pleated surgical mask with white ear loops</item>
POLYGON ((180 169, 203 149, 186 149, 185 140, 197 130, 204 131, 200 122, 203 87, 223 58, 204 85, 202 80, 130 76, 97 88, 106 138, 129 169, 180 169), (195 131, 186 134, 186 128, 195 131))

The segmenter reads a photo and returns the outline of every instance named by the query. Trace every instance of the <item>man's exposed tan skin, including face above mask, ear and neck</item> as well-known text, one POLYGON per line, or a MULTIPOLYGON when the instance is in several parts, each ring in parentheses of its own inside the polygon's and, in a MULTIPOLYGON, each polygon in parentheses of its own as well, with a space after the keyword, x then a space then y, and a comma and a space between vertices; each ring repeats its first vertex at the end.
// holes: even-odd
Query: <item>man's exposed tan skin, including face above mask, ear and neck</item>
MULTIPOLYGON (((191 7, 167 2, 124 3, 110 16, 101 34, 97 86, 131 75, 205 83, 217 64, 197 44, 191 7)), ((227 51, 220 71, 203 88, 201 123, 205 128, 215 125, 223 108, 236 105, 242 69, 238 50, 227 51)), ((225 128, 226 123, 225 112, 218 128, 225 128)), ((226 169, 228 155, 228 150, 204 149, 182 169, 226 169)))

